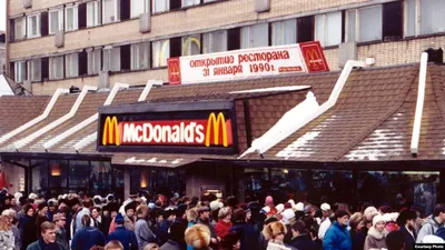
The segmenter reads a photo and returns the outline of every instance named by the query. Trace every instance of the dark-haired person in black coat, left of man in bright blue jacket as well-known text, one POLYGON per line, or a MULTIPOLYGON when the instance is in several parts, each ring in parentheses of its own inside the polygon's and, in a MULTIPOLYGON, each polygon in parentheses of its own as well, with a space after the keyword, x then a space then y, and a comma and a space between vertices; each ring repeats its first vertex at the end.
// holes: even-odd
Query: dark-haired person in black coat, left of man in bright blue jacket
POLYGON ((291 226, 291 233, 293 239, 290 240, 289 246, 298 250, 322 250, 322 246, 313 241, 304 221, 297 220, 291 226))

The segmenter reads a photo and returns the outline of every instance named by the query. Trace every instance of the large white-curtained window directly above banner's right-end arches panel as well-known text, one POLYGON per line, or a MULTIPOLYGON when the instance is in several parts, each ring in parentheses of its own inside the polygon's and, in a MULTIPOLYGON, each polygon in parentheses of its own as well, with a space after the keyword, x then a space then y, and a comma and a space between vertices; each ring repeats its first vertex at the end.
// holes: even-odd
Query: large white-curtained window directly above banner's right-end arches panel
POLYGON ((322 47, 342 43, 340 11, 315 16, 315 40, 319 41, 322 47))

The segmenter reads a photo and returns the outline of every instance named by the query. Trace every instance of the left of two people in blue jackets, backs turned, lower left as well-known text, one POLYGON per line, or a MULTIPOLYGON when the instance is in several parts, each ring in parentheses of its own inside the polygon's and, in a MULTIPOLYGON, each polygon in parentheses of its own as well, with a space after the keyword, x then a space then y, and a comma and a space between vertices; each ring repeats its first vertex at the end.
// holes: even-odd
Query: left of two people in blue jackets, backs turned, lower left
POLYGON ((71 242, 72 250, 89 250, 93 246, 103 247, 106 243, 103 233, 91 227, 91 218, 88 214, 82 217, 82 228, 77 230, 71 242))

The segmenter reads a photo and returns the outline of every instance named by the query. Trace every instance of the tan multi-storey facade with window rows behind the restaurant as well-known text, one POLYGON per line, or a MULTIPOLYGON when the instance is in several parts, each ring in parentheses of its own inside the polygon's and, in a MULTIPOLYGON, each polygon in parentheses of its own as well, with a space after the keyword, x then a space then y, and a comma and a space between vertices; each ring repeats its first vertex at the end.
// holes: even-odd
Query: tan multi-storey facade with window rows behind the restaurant
POLYGON ((418 62, 445 41, 442 0, 48 0, 7 2, 8 74, 33 93, 168 81, 170 57, 319 40, 347 59, 418 62), (428 18, 425 18, 428 17, 428 18))

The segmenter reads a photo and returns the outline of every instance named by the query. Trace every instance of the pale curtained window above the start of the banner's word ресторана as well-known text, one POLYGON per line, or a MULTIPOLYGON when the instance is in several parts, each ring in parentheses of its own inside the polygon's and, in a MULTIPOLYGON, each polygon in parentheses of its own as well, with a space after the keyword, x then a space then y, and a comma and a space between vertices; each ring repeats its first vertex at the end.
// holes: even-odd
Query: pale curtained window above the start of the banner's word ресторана
POLYGON ((241 49, 269 46, 269 24, 261 23, 241 28, 241 49))

